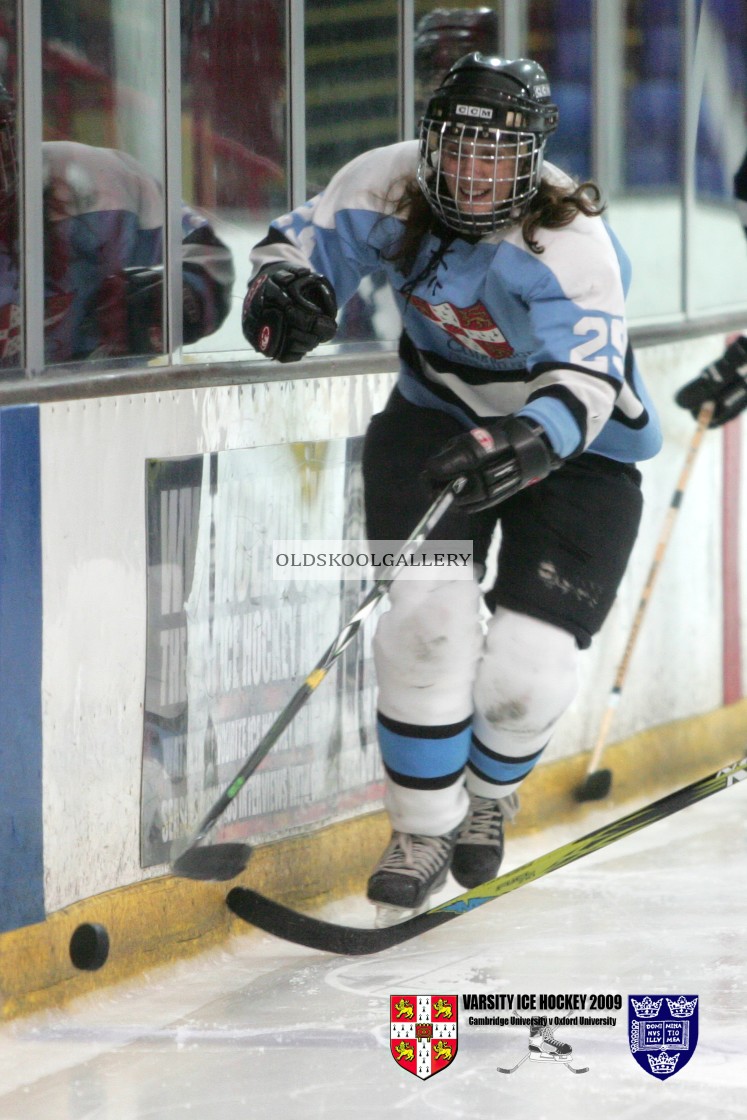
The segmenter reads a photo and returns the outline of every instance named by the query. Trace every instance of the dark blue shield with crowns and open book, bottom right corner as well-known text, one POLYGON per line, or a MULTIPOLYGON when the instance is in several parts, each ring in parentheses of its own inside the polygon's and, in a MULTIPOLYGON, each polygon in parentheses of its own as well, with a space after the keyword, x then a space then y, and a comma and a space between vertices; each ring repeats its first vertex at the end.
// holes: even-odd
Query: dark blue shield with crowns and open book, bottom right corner
POLYGON ((672 1077, 698 1045, 698 996, 628 996, 628 1042, 642 1070, 672 1077))

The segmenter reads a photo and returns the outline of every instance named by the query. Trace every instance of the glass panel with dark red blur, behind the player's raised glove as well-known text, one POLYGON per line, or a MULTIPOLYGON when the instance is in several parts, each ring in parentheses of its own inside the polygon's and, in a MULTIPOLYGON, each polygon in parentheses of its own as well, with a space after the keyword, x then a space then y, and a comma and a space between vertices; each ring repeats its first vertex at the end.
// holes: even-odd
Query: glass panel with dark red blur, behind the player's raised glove
POLYGON ((259 357, 241 330, 249 253, 288 208, 283 0, 181 0, 185 357, 259 357))

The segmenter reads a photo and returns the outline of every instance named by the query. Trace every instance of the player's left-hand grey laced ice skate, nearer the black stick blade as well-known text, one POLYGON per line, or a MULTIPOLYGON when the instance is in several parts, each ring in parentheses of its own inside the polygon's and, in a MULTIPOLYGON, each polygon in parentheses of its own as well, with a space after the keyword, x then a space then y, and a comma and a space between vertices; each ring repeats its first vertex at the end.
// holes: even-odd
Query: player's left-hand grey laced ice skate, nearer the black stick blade
POLYGON ((446 880, 456 838, 457 829, 439 837, 392 833, 366 892, 377 907, 377 926, 403 922, 428 908, 431 894, 446 880))

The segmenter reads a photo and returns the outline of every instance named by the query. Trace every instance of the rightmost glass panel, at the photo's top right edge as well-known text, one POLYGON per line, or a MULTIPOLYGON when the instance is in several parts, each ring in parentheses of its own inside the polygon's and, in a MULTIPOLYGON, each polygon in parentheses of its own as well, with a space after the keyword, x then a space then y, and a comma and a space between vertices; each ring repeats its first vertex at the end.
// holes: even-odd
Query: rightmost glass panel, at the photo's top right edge
POLYGON ((689 223, 691 311, 727 311, 747 299, 747 2, 700 6, 695 44, 700 111, 695 204, 689 223), (736 175, 735 175, 736 172, 736 175))

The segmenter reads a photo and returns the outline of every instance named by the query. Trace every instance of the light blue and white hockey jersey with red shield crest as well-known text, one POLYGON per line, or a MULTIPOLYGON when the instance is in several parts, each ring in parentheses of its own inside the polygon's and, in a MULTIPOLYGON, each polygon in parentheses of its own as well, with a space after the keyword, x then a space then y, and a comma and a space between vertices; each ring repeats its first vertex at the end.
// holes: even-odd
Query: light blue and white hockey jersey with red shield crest
MULTIPOLYGON (((402 315, 398 385, 408 400, 467 427, 532 418, 562 458, 655 455, 659 421, 627 337, 629 263, 607 223, 579 214, 564 228, 540 228, 541 255, 519 227, 476 243, 457 236, 445 251, 429 234, 403 276, 386 255, 402 234, 393 212, 417 159, 417 141, 405 141, 347 164, 272 223, 252 252, 254 271, 276 261, 311 268, 343 304, 383 270, 402 315)), ((551 165, 544 175, 564 178, 551 165)))

